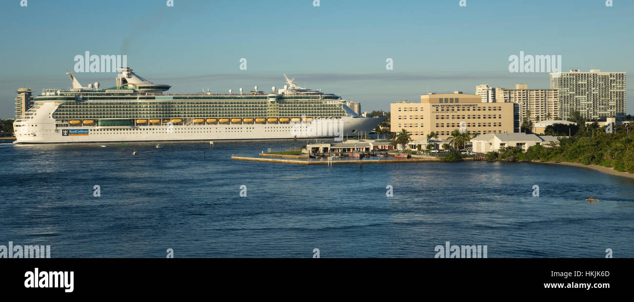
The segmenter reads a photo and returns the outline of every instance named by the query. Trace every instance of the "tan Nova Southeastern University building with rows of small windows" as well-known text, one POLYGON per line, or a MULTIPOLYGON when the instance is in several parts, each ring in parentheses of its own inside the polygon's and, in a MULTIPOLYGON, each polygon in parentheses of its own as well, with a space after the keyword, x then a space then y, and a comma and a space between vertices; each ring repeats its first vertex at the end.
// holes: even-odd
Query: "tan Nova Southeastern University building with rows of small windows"
POLYGON ((513 103, 482 103, 479 95, 430 93, 420 103, 402 101, 390 104, 391 131, 410 131, 412 140, 426 140, 435 132, 441 140, 460 129, 471 133, 513 133, 513 103))

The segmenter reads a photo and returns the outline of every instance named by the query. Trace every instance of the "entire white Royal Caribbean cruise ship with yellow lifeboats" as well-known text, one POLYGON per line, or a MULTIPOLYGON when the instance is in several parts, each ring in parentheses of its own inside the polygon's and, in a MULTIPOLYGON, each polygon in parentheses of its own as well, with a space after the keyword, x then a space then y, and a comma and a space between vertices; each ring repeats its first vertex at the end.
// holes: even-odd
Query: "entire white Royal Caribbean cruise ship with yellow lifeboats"
POLYGON ((13 123, 14 143, 343 138, 370 133, 382 120, 360 117, 338 95, 287 84, 271 93, 166 94, 128 67, 116 86, 44 89, 13 123))

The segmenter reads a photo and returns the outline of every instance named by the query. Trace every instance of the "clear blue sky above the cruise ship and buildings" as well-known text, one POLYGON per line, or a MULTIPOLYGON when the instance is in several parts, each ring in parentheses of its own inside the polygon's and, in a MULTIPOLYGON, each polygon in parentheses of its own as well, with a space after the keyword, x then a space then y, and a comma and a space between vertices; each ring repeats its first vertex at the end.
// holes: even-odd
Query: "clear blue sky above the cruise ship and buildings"
MULTIPOLYGON (((562 69, 634 71, 634 1, 313 0, 38 1, 0 4, 0 117, 17 88, 67 88, 75 55, 127 55, 172 93, 299 84, 361 102, 364 111, 478 84, 548 88, 546 73, 510 73, 508 56, 561 55, 562 69), (240 58, 247 70, 240 70, 240 58), (385 60, 394 69, 385 69, 385 60)), ((113 86, 115 73, 79 73, 113 86)), ((629 85, 632 87, 632 84, 629 85)), ((628 95, 631 95, 628 88, 628 95)), ((628 98, 634 114, 634 98, 628 98)))

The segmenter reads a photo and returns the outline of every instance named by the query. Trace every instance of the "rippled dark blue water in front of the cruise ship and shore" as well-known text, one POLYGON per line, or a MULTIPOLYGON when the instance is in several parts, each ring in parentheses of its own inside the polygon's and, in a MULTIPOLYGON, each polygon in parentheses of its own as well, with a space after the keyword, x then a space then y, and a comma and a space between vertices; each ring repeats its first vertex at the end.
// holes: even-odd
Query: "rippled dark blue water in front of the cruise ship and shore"
POLYGON ((433 258, 450 241, 486 245, 488 258, 634 257, 630 178, 536 163, 230 159, 305 144, 2 143, 0 245, 50 245, 52 258, 311 258, 315 248, 433 258))

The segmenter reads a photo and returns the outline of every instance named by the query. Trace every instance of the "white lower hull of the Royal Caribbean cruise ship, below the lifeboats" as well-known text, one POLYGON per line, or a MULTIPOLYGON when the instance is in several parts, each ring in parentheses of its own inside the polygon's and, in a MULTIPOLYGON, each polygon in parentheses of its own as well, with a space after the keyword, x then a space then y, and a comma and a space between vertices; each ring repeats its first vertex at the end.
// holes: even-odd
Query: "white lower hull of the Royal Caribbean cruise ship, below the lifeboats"
POLYGON ((331 127, 321 127, 320 122, 304 124, 308 131, 301 131, 296 124, 191 124, 134 127, 56 126, 49 117, 52 103, 44 103, 32 119, 16 122, 14 143, 89 143, 118 141, 183 141, 183 140, 263 140, 294 138, 346 138, 367 135, 380 118, 342 117, 329 119, 331 127), (314 127, 318 125, 317 127, 314 127), (339 127, 337 127, 339 126, 339 127), (320 129, 314 129, 320 128, 320 129), (338 130, 342 129, 342 130, 338 130), (311 129, 313 131, 311 131, 311 129))

